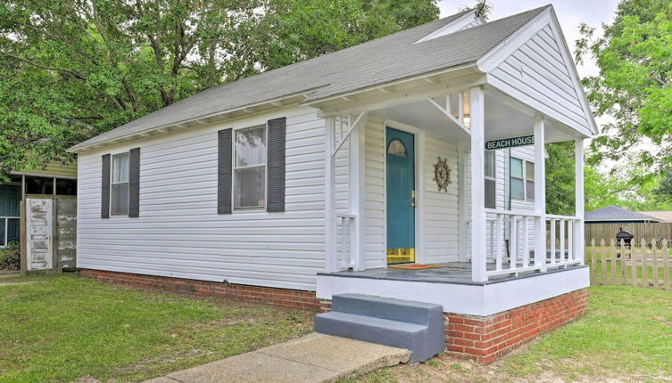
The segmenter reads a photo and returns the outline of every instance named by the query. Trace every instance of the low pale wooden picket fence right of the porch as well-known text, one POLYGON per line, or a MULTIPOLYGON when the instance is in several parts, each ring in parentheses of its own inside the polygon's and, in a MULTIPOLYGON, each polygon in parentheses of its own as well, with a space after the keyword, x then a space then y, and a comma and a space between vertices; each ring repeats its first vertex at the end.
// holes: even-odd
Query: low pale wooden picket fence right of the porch
POLYGON ((670 290, 668 240, 639 240, 626 247, 625 241, 590 241, 586 263, 593 285, 633 285, 670 290))

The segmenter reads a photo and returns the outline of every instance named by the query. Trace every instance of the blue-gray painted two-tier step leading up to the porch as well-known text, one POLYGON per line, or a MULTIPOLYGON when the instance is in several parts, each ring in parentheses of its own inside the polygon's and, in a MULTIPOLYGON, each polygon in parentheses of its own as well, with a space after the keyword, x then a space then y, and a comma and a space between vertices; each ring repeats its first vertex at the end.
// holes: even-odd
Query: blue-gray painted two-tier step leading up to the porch
POLYGON ((438 305, 360 294, 332 297, 332 310, 315 317, 315 331, 411 351, 423 362, 444 350, 444 314, 438 305))

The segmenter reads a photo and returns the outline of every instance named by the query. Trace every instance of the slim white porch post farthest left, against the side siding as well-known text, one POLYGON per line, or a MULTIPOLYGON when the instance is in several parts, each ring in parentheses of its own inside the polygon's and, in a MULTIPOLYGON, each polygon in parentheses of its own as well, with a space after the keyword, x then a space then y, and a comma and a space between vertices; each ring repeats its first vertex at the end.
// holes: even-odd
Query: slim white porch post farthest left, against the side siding
POLYGON ((338 271, 338 260, 336 259, 336 166, 335 159, 331 155, 334 150, 334 118, 325 118, 324 132, 324 243, 325 258, 328 273, 338 271))

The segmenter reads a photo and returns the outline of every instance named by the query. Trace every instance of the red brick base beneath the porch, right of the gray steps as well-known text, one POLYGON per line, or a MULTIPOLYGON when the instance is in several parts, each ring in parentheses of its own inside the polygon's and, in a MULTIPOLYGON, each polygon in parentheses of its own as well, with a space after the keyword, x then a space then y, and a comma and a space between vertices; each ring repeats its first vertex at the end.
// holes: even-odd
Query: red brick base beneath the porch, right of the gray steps
POLYGON ((446 350, 492 363, 511 349, 585 314, 587 300, 587 289, 579 289, 485 317, 444 313, 446 350))

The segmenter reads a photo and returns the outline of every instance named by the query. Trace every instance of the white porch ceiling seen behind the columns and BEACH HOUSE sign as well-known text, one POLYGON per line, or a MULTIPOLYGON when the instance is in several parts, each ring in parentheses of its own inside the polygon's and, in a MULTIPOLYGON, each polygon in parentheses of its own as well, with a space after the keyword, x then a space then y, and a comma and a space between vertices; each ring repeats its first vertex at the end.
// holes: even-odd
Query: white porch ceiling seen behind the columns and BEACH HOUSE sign
MULTIPOLYGON (((454 102, 454 101, 453 101, 454 102)), ((453 110, 456 106, 453 105, 453 110)), ((533 134, 534 110, 507 94, 485 86, 485 141, 533 134)), ((394 105, 369 114, 425 130, 452 143, 469 143, 470 137, 460 126, 427 100, 394 105)), ((570 141, 578 137, 573 129, 546 119, 546 143, 570 141)))

